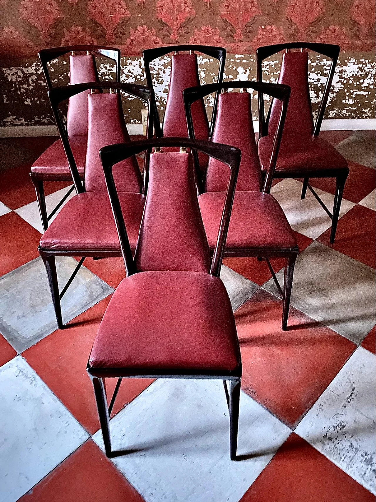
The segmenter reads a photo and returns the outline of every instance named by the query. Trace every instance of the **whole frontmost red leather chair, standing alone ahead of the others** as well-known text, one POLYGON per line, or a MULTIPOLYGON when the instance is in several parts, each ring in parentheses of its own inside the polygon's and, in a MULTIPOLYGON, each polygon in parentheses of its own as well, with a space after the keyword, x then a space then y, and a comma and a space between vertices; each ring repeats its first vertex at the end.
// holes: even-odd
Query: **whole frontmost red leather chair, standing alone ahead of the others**
POLYGON ((121 379, 152 376, 222 380, 230 414, 230 457, 236 458, 240 350, 219 272, 240 155, 232 147, 181 138, 112 145, 100 151, 127 272, 104 313, 87 364, 108 457, 126 453, 112 451, 109 432, 109 414, 121 379), (178 146, 185 152, 150 157, 145 212, 133 260, 112 166, 145 149, 178 146), (197 203, 192 154, 187 148, 230 168, 212 261, 197 203), (106 378, 119 379, 109 406, 106 378))

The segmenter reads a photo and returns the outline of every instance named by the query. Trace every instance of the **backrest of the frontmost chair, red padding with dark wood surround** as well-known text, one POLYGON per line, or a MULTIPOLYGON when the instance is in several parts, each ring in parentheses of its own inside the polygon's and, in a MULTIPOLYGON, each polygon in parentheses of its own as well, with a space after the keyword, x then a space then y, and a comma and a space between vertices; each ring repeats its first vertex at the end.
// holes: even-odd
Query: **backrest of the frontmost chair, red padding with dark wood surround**
POLYGON ((241 158, 240 150, 199 140, 162 138, 108 146, 100 150, 100 158, 127 275, 144 270, 186 271, 186 263, 189 262, 190 271, 208 272, 219 277, 241 158), (230 168, 211 264, 195 192, 192 154, 187 152, 152 154, 148 194, 135 260, 132 257, 112 167, 119 161, 153 147, 195 149, 224 162, 230 168))

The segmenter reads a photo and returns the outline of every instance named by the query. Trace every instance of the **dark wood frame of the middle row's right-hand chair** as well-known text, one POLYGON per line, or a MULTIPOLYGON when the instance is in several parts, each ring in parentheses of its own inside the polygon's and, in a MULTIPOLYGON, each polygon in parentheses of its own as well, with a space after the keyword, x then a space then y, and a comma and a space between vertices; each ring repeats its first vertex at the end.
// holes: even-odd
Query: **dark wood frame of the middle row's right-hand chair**
MULTIPOLYGON (((274 169, 276 167, 278 151, 281 145, 283 127, 285 124, 287 106, 289 103, 290 97, 290 87, 287 85, 281 84, 268 84, 268 83, 260 83, 260 82, 249 82, 249 81, 237 81, 237 82, 222 82, 221 84, 207 84, 201 85, 200 87, 191 87, 189 89, 185 89, 183 91, 184 96, 184 105, 185 105, 185 113, 187 118, 187 126, 188 126, 188 136, 189 138, 194 138, 194 127, 193 120, 191 114, 191 105, 197 99, 201 97, 207 96, 208 94, 212 94, 213 92, 222 92, 227 91, 228 89, 253 89, 256 90, 259 95, 260 93, 268 94, 275 99, 279 99, 282 102, 282 110, 278 122, 278 127, 274 135, 273 141, 273 151, 270 159, 269 166, 266 170, 264 186, 262 188, 263 193, 270 193, 274 175, 274 169)), ((215 124, 216 113, 213 113, 212 126, 215 124)), ((196 171, 198 169, 198 157, 196 153, 193 153, 196 164, 196 171)), ((298 246, 294 248, 269 248, 262 249, 263 255, 260 256, 261 249, 258 247, 247 247, 247 248, 238 248, 238 249, 227 249, 224 248, 224 256, 226 257, 248 257, 248 258, 258 258, 259 260, 265 260, 270 273, 272 274, 273 280, 276 284, 279 294, 281 295, 281 299, 283 301, 283 314, 282 314, 282 329, 287 329, 287 320, 289 316, 289 307, 291 300, 291 290, 293 284, 293 276, 294 276, 294 267, 295 261, 299 253, 298 246), (285 275, 284 275, 284 287, 280 286, 276 273, 273 270, 273 267, 270 263, 270 258, 285 258, 285 275)))

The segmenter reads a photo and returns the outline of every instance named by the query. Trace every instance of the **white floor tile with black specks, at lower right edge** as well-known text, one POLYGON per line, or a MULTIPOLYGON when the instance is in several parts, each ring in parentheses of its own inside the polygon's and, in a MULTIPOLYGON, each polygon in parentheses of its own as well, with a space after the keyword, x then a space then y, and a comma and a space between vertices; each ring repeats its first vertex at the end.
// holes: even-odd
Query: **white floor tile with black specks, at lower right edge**
POLYGON ((376 356, 359 347, 295 430, 374 494, 375 403, 376 356))

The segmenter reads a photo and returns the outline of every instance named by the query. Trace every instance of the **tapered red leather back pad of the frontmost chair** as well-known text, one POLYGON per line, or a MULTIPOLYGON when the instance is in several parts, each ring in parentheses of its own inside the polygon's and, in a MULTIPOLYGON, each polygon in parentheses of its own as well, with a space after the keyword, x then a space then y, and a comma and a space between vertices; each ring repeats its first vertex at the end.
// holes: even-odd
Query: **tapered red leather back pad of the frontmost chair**
POLYGON ((154 153, 136 251, 139 271, 209 272, 209 249, 197 203, 192 154, 154 153))

